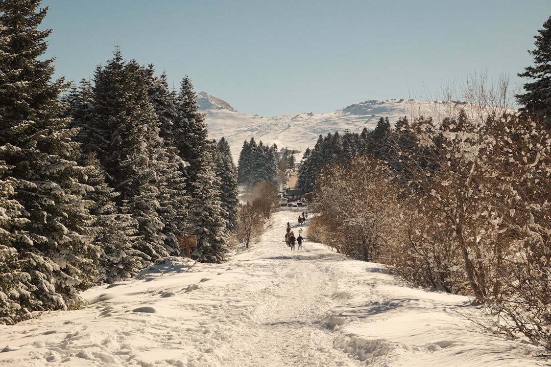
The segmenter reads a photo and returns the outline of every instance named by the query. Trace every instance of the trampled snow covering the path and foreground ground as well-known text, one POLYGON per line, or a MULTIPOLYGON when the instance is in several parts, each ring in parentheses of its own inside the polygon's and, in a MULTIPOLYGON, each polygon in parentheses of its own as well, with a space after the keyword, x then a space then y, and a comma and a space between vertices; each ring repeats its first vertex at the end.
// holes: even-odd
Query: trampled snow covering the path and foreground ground
POLYGON ((466 297, 408 287, 307 237, 291 251, 296 215, 279 209, 260 243, 224 264, 167 258, 89 289, 83 309, 0 326, 0 365, 549 365, 544 350, 462 316, 479 312, 466 297))

